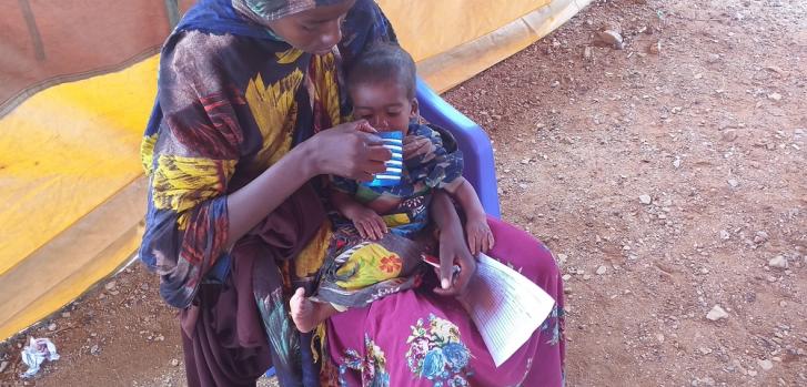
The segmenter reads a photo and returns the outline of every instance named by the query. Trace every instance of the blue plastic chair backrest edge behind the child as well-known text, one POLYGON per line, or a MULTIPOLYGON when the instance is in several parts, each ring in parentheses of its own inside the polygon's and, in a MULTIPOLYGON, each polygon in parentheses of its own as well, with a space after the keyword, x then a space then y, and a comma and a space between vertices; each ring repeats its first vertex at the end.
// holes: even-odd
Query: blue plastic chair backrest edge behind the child
POLYGON ((501 217, 491 139, 480 125, 445 102, 421 79, 417 79, 417 102, 426 121, 454 134, 465 160, 463 175, 476 189, 485 212, 501 217))

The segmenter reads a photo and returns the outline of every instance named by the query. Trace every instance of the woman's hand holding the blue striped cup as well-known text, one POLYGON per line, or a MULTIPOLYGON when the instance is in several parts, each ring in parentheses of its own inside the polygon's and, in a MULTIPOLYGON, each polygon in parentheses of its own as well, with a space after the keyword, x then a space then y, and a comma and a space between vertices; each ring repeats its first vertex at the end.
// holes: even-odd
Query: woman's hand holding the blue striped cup
POLYGON ((392 159, 377 133, 366 121, 343 123, 324 130, 305 141, 306 156, 312 176, 333 174, 357 181, 372 181, 373 174, 386 171, 392 159))

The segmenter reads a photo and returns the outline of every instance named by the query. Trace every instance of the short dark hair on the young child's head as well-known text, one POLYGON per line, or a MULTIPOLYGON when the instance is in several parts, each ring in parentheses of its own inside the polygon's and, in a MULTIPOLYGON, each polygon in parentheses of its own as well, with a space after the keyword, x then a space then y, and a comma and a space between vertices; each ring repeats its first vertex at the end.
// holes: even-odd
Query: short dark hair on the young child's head
POLYGON ((397 82, 415 98, 415 61, 401 47, 377 43, 356 58, 347 72, 347 90, 362 83, 397 82))

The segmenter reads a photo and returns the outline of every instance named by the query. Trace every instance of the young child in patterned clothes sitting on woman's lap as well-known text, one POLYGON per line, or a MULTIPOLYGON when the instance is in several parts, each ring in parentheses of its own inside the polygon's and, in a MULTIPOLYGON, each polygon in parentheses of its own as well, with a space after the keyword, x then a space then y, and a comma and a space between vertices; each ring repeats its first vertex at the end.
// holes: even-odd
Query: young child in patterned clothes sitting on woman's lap
POLYGON ((462 176, 462 153, 451 135, 443 139, 418 123, 415 79, 412 57, 391 44, 370 49, 347 74, 354 119, 367 120, 380 132, 400 131, 405 136, 403 176, 394 186, 332 179, 331 201, 344 218, 334 221, 333 242, 313 296, 306 298, 299 288, 291 299, 292 318, 301 332, 349 307, 366 306, 417 286, 421 256, 428 247, 421 232, 428 223, 432 190, 447 191, 462 206, 472 254, 493 247, 485 211, 462 176), (452 142, 453 150, 444 146, 444 140, 452 142))

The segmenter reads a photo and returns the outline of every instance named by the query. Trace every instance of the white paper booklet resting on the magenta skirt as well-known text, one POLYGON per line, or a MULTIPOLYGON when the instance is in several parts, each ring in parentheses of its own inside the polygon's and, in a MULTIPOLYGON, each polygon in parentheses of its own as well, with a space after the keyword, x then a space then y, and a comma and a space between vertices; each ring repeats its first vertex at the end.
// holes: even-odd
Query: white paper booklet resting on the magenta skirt
POLYGON ((529 339, 555 301, 521 273, 480 254, 477 273, 461 301, 496 367, 529 339))

